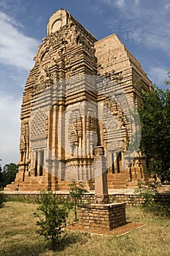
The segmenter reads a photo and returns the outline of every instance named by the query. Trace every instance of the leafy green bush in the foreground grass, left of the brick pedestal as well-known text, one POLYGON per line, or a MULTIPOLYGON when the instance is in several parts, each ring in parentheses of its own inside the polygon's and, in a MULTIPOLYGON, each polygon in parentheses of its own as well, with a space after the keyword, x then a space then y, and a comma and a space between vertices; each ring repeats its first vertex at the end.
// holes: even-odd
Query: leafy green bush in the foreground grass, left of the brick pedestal
POLYGON ((69 215, 69 206, 66 203, 58 203, 58 198, 53 192, 41 192, 39 200, 40 206, 37 208, 42 214, 34 213, 39 217, 36 225, 39 226, 38 233, 45 236, 45 240, 52 241, 53 250, 61 241, 63 227, 66 226, 66 218, 69 215))

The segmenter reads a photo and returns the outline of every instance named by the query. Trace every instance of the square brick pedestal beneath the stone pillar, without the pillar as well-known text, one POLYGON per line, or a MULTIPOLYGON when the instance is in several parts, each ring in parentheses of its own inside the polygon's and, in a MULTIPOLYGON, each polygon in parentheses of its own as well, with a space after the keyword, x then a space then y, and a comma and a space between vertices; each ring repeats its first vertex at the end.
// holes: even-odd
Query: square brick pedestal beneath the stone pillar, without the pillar
POLYGON ((85 228, 112 230, 126 224, 125 203, 91 203, 78 206, 79 222, 85 228))

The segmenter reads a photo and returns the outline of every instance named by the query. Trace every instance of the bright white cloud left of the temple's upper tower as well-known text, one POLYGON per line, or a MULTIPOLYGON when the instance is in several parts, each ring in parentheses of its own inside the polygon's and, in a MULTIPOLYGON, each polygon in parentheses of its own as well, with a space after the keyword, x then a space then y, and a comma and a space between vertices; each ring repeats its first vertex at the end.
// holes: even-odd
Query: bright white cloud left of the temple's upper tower
POLYGON ((20 69, 30 69, 34 62, 38 41, 24 35, 22 25, 0 12, 0 63, 20 69))

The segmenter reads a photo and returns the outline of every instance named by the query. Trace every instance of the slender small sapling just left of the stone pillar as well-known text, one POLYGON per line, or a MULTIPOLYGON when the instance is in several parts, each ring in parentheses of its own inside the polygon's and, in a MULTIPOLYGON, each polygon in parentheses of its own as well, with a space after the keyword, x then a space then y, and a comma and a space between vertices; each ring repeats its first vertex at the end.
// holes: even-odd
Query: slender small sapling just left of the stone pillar
POLYGON ((82 197, 82 195, 86 192, 88 192, 82 183, 78 183, 76 181, 72 181, 72 184, 69 185, 69 196, 72 197, 74 201, 74 219, 77 221, 77 203, 82 197))

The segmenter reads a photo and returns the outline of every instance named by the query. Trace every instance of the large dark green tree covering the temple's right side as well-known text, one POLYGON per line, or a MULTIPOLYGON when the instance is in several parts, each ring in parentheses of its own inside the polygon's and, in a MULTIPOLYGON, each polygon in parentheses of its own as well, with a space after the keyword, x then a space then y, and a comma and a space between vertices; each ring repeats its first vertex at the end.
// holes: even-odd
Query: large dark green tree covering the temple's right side
POLYGON ((142 97, 140 147, 147 157, 147 170, 162 182, 170 181, 170 91, 155 86, 142 97))

